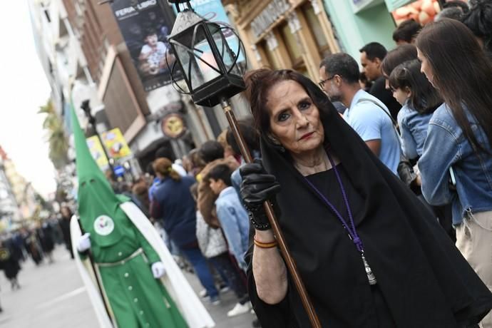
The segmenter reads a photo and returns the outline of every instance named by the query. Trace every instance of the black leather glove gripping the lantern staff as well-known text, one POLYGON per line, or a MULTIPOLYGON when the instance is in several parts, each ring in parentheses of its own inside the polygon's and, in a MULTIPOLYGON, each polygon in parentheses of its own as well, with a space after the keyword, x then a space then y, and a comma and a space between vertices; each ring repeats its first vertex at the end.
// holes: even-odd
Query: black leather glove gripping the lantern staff
POLYGON ((275 195, 280 191, 280 184, 274 175, 265 171, 260 160, 242 165, 239 172, 242 177, 241 198, 252 225, 257 230, 269 230, 270 221, 263 203, 267 200, 272 203, 272 200, 275 200, 275 195))

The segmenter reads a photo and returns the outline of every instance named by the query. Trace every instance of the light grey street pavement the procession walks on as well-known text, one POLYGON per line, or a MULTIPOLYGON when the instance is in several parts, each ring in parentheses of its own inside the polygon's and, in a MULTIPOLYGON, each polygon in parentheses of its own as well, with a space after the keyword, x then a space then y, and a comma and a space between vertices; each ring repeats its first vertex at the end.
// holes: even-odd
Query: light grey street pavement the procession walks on
MULTIPOLYGON (((9 281, 0 274, 1 328, 97 328, 98 323, 76 265, 62 246, 53 252, 55 262, 36 267, 32 260, 22 264, 19 273, 21 289, 12 291, 9 281)), ((199 292, 195 275, 185 274, 199 292)), ((235 305, 232 292, 221 295, 221 304, 203 304, 215 320, 217 328, 250 328, 253 315, 249 312, 228 318, 227 311, 235 305)), ((165 328, 165 327, 163 327, 165 328)))

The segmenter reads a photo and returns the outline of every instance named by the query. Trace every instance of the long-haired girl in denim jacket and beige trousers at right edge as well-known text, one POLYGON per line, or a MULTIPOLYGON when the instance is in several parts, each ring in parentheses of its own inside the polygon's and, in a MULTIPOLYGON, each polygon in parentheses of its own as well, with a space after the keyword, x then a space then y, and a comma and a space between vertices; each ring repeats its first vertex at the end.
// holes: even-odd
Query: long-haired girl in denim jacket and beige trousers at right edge
MULTIPOLYGON (((419 160, 422 193, 433 205, 452 204, 456 247, 492 290, 492 62, 451 19, 424 27, 416 46, 421 71, 445 101, 419 160)), ((492 327, 490 312, 481 327, 492 327)))

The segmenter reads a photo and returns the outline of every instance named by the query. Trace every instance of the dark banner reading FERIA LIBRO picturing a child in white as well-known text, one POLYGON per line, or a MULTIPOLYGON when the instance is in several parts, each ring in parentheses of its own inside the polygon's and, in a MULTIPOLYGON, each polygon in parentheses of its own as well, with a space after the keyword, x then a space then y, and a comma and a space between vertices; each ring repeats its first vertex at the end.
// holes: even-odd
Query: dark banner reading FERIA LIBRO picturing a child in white
MULTIPOLYGON (((111 9, 145 91, 172 83, 169 67, 176 58, 170 53, 168 35, 174 24, 173 11, 160 6, 158 0, 114 0, 111 9)), ((174 76, 180 79, 178 71, 174 76)))

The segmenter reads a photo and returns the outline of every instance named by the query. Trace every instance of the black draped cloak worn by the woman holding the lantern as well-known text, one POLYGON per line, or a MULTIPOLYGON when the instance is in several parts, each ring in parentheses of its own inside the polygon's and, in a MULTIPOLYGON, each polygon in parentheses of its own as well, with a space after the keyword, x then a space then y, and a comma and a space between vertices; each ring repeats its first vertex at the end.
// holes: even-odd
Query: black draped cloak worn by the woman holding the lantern
MULTIPOLYGON (((362 195, 364 211, 355 218, 357 232, 396 326, 451 328, 479 322, 492 308, 492 294, 434 215, 371 153, 318 88, 310 96, 320 109, 325 143, 341 160, 352 188, 362 195)), ((265 135, 261 147, 265 169, 282 187, 277 195, 280 226, 322 327, 378 327, 371 287, 347 232, 342 225, 327 230, 327 220, 337 218, 304 182, 286 152, 265 135)), ((287 297, 277 305, 257 296, 251 265, 248 287, 262 327, 310 327, 290 277, 287 297)))

